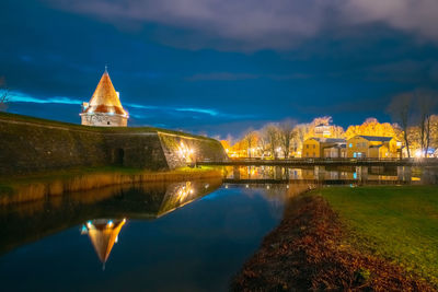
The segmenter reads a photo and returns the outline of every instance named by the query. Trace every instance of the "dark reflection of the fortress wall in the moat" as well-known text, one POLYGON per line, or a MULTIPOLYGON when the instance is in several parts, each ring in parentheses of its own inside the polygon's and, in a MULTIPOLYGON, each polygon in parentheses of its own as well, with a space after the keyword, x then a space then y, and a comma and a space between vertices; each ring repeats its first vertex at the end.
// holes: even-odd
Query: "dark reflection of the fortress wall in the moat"
MULTIPOLYGON (((1 207, 0 254, 78 224, 85 224, 87 227, 87 222, 96 219, 153 220, 208 195, 221 184, 222 180, 216 178, 120 185, 73 192, 46 201, 1 207)), ((116 220, 113 220, 113 224, 116 224, 116 220)))

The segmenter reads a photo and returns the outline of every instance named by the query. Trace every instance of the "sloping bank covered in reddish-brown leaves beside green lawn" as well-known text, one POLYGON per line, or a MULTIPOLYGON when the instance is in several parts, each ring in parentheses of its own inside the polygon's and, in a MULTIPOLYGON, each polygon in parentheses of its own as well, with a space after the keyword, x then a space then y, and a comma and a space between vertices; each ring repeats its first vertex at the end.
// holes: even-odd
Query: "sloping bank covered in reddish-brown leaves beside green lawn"
MULTIPOLYGON (((264 238, 258 252, 233 279, 232 290, 436 291, 431 278, 427 282, 418 276, 419 270, 403 267, 388 254, 383 256, 380 253, 382 246, 369 244, 373 241, 369 233, 356 236, 357 230, 350 223, 351 218, 364 214, 364 220, 370 220, 373 213, 364 213, 354 207, 349 208, 348 213, 339 212, 347 205, 357 206, 347 197, 348 189, 323 188, 293 199, 287 207, 280 225, 264 238), (339 189, 345 190, 345 196, 338 197, 336 203, 333 198, 339 189)), ((355 192, 356 189, 360 188, 349 191, 355 192)), ((368 195, 372 190, 368 188, 367 191, 364 188, 364 191, 368 195)), ((379 189, 373 191, 376 196, 384 196, 379 189)), ((381 206, 387 203, 391 203, 391 199, 383 200, 381 206)), ((426 208, 427 202, 424 206, 426 208)), ((388 221, 379 221, 378 224, 387 223, 388 221)), ((376 222, 370 220, 368 225, 372 224, 376 222)), ((407 233, 405 240, 410 240, 406 238, 408 236, 411 234, 407 233)), ((400 238, 391 238, 391 242, 400 243, 400 238)))

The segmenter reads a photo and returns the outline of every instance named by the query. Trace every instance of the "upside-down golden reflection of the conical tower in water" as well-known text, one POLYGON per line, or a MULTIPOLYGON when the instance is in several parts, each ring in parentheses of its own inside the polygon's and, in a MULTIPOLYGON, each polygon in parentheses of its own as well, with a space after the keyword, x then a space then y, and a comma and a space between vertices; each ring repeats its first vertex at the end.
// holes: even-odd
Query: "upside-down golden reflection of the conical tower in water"
POLYGON ((99 259, 105 268, 113 245, 118 241, 118 233, 125 224, 126 219, 95 219, 82 225, 82 234, 88 234, 99 259))

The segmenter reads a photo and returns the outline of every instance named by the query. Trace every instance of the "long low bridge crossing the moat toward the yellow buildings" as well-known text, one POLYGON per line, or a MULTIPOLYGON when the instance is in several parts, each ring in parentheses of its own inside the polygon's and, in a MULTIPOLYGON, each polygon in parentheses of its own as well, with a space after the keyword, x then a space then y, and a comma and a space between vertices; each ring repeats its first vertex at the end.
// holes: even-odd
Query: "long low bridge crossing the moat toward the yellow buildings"
POLYGON ((198 165, 223 166, 438 166, 438 159, 230 159, 197 161, 198 165))

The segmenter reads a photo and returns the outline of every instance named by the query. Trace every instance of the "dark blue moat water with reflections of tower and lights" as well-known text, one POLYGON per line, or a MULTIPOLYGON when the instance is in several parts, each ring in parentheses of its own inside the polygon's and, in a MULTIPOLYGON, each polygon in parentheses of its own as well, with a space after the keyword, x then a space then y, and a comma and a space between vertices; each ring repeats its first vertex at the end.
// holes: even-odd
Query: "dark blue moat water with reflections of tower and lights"
POLYGON ((0 290, 224 291, 278 225, 296 183, 436 183, 436 174, 231 167, 224 180, 116 186, 2 207, 0 290))

